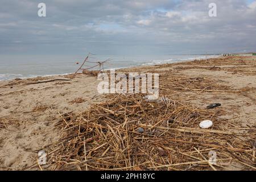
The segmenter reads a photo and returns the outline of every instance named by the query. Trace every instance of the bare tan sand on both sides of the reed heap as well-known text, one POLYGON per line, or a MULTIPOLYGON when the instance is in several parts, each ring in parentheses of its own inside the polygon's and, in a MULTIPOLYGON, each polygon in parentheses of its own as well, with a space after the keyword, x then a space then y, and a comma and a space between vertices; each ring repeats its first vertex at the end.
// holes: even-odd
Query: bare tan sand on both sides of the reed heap
MULTIPOLYGON (((241 127, 255 127, 256 57, 220 57, 119 70, 151 73, 162 71, 173 72, 177 77, 209 78, 233 90, 246 89, 243 94, 193 90, 180 91, 179 94, 189 96, 187 102, 201 108, 221 103, 222 109, 228 113, 222 118, 239 123, 241 127)), ((60 114, 71 111, 80 113, 89 105, 105 99, 104 95, 98 94, 97 84, 97 77, 85 74, 0 82, 0 169, 20 170, 34 164, 37 150, 59 139, 60 131, 55 125, 61 119, 60 114), (53 79, 68 81, 49 81, 53 79), (40 82, 47 80, 49 82, 40 82), (31 82, 37 84, 28 84, 31 82)), ((243 166, 233 164, 227 169, 240 170, 243 166)))

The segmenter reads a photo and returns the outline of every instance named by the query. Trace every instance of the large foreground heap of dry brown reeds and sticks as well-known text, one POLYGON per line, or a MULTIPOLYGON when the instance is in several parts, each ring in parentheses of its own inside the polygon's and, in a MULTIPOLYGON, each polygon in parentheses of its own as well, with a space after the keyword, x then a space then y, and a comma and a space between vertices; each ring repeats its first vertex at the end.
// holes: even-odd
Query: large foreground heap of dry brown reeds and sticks
POLYGON ((172 106, 143 102, 143 94, 115 94, 108 98, 81 113, 61 114, 57 127, 63 134, 57 150, 49 152, 49 159, 54 159, 49 160, 49 169, 84 170, 88 165, 88 170, 134 170, 136 166, 143 170, 184 170, 200 164, 193 166, 200 170, 208 160, 197 160, 194 147, 200 147, 203 154, 216 148, 220 163, 237 160, 253 165, 251 153, 247 152, 251 151, 250 140, 237 139, 247 133, 225 131, 217 120, 220 113, 196 109, 177 98, 172 106), (191 113, 198 116, 190 118, 191 113), (173 118, 171 125, 165 122, 173 118), (214 130, 197 128, 197 121, 204 118, 215 120, 214 130), (168 164, 170 156, 172 163, 168 164))

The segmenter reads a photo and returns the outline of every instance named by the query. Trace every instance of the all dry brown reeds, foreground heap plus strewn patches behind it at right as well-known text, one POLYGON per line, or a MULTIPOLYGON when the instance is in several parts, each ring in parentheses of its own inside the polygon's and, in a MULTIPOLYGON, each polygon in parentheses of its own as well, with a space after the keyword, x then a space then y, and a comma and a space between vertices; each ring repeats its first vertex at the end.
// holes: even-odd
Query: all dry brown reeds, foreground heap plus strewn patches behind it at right
MULTIPOLYGON (((222 69, 219 67, 224 62, 238 64, 232 57, 223 57, 179 65, 200 63, 214 71, 222 69)), ((158 68, 162 67, 166 66, 158 68)), ((46 168, 222 170, 240 163, 243 169, 256 169, 255 126, 244 128, 221 118, 226 114, 221 108, 209 110, 188 104, 189 93, 245 94, 248 89, 236 90, 209 77, 154 72, 160 73, 160 102, 147 102, 143 94, 113 94, 80 114, 61 114, 57 126, 62 131, 60 141, 44 147, 55 146, 48 151, 46 168), (211 129, 200 129, 199 123, 205 119, 213 121, 211 129), (208 160, 212 151, 216 152, 216 163, 208 160)))

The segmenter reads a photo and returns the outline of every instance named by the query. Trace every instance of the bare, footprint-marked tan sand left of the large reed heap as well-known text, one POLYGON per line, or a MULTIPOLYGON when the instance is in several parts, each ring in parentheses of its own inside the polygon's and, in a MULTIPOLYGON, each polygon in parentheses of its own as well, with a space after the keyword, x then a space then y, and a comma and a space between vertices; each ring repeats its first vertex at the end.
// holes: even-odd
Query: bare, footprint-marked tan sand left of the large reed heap
MULTIPOLYGON (((79 112, 102 101, 97 79, 85 75, 71 81, 28 82, 65 78, 31 78, 0 82, 0 169, 22 169, 35 163, 40 147, 59 139, 54 125, 59 113, 79 112)), ((67 78, 65 78, 67 79, 67 78)))

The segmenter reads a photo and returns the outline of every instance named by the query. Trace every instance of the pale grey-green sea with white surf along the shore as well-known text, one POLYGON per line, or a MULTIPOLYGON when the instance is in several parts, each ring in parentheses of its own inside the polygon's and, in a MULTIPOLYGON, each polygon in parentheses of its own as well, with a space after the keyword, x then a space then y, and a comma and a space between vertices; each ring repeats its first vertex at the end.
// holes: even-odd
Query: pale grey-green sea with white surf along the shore
MULTIPOLYGON (((67 75, 74 73, 87 55, 0 55, 0 81, 14 78, 67 75)), ((137 67, 200 60, 220 55, 89 55, 89 62, 82 68, 102 69, 97 62, 108 60, 104 69, 137 67)))

